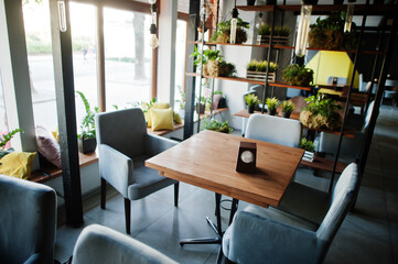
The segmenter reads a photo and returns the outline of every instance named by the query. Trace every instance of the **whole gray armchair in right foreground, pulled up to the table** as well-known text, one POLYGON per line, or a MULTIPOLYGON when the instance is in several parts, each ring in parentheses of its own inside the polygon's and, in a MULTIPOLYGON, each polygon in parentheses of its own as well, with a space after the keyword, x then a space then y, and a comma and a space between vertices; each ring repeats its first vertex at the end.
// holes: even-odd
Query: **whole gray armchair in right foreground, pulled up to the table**
POLYGON ((239 264, 322 263, 359 187, 357 165, 348 165, 332 196, 292 183, 280 209, 248 206, 223 238, 224 255, 239 264))

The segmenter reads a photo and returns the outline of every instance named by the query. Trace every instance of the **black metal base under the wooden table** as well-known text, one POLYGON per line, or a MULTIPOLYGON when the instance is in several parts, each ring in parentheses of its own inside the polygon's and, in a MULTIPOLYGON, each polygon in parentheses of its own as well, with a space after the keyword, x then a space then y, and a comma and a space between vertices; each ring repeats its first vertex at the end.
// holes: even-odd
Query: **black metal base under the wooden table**
MULTIPOLYGON (((219 211, 222 195, 215 194, 215 197, 216 197, 217 224, 214 224, 208 217, 206 217, 206 220, 217 237, 216 238, 201 238, 201 239, 185 239, 185 240, 180 241, 180 245, 184 245, 184 244, 220 244, 222 243, 223 234, 224 234, 224 232, 222 231, 222 217, 220 217, 220 211, 219 211)), ((229 224, 233 221, 234 215, 237 210, 237 206, 238 206, 238 200, 233 199, 233 205, 230 207, 230 215, 229 215, 229 224)))

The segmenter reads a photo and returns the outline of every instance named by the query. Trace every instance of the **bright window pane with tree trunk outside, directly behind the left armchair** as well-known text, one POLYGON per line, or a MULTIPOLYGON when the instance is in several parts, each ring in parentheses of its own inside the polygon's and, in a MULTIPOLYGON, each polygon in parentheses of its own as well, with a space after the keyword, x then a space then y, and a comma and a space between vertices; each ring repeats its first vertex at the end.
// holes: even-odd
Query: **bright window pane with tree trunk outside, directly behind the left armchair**
POLYGON ((104 9, 107 110, 125 108, 151 96, 150 15, 104 9))

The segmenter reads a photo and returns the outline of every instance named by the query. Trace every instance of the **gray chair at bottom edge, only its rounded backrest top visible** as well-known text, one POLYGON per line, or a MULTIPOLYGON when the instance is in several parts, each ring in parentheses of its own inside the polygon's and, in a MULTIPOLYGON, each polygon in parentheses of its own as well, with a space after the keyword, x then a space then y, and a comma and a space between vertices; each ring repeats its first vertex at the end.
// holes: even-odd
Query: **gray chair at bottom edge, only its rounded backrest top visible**
POLYGON ((154 249, 112 229, 92 224, 77 239, 72 264, 176 264, 154 249))

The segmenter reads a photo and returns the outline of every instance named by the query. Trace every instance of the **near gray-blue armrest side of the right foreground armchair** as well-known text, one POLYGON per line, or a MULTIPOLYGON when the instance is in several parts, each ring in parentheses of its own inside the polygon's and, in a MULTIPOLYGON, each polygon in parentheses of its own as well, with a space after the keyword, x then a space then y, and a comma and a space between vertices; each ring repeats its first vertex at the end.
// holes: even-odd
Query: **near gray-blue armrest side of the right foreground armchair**
POLYGON ((315 226, 275 209, 263 209, 261 216, 238 211, 224 235, 223 251, 236 263, 261 263, 265 260, 315 263, 316 254, 312 254, 318 249, 315 231, 315 226))

